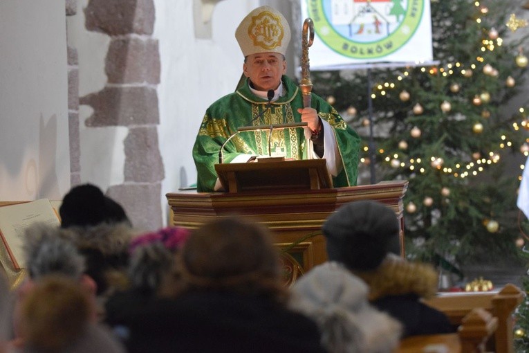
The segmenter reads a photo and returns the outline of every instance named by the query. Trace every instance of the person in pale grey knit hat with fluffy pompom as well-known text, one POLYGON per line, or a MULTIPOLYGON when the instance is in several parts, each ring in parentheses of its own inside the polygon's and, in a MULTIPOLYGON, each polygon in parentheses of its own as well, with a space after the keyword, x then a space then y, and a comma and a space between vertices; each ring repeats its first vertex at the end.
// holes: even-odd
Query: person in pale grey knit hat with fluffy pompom
POLYGON ((316 321, 333 353, 392 353, 402 325, 371 306, 367 285, 338 262, 310 269, 292 287, 290 307, 316 321))

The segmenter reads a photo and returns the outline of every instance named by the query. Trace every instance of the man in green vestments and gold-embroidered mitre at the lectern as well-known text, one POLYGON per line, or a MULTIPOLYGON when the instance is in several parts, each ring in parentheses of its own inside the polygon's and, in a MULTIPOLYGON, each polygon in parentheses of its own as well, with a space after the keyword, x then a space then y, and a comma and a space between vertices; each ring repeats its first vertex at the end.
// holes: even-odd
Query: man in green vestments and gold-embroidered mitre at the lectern
POLYGON ((216 163, 245 163, 259 156, 325 159, 333 185, 356 185, 360 138, 314 93, 310 107, 304 107, 299 86, 286 75, 290 26, 285 17, 261 6, 243 18, 235 37, 244 56, 244 79, 205 112, 193 147, 198 192, 222 189, 216 163), (308 127, 274 130, 271 141, 268 130, 235 134, 239 127, 301 122, 308 127))

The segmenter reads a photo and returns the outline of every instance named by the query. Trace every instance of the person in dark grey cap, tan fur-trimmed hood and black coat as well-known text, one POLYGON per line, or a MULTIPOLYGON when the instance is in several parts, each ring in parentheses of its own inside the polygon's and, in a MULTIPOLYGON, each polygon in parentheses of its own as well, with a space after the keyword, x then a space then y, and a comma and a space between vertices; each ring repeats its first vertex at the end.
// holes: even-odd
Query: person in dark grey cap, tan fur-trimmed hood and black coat
POLYGON ((437 292, 434 267, 395 254, 400 226, 391 208, 378 201, 347 203, 322 231, 328 259, 366 282, 369 301, 402 323, 403 337, 454 332, 443 312, 422 302, 437 292))

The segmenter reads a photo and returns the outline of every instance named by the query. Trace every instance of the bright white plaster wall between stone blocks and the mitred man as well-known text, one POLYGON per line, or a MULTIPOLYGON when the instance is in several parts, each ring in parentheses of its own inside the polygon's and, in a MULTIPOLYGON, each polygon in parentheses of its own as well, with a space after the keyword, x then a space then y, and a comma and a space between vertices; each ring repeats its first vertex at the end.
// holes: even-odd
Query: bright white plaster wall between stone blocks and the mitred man
MULTIPOLYGON (((192 147, 205 110, 236 88, 243 55, 235 29, 257 0, 222 0, 212 15, 212 37, 194 34, 193 1, 156 0, 154 37, 160 44, 160 152, 165 165, 162 209, 167 192, 196 183, 192 147)), ((164 215, 167 219, 167 213, 164 215)))

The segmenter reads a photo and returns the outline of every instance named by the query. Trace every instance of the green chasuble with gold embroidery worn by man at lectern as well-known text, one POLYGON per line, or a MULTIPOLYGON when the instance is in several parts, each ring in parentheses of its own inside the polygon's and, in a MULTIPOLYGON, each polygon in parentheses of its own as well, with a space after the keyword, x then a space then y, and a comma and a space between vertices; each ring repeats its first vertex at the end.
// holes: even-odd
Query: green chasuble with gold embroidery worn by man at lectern
MULTIPOLYGON (((214 102, 206 111, 198 136, 193 147, 193 159, 198 172, 196 183, 198 192, 213 191, 217 175, 215 164, 219 163, 221 145, 237 131, 238 127, 249 125, 270 125, 283 123, 301 123, 298 108, 303 107, 301 91, 293 80, 284 75, 284 94, 271 103, 254 95, 248 86, 248 79, 234 93, 214 102), (266 109, 264 114, 257 118, 266 109)), ((312 94, 311 107, 316 109, 320 118, 333 127, 342 158, 342 171, 333 176, 335 187, 356 185, 358 176, 358 152, 360 138, 342 119, 340 114, 328 103, 312 94)), ((286 159, 304 159, 306 140, 304 129, 291 128, 272 132, 272 152, 268 151, 268 131, 239 132, 223 149, 223 163, 230 163, 239 154, 282 155, 286 159)))

